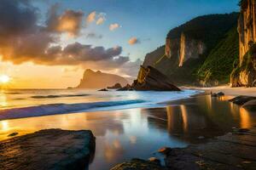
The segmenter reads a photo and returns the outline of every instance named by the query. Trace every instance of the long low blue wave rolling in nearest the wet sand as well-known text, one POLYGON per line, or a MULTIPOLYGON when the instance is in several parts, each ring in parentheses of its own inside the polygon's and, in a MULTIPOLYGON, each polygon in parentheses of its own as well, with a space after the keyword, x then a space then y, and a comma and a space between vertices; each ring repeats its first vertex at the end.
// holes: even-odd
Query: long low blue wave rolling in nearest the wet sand
POLYGON ((123 101, 108 101, 94 103, 79 103, 79 104, 49 104, 29 106, 22 108, 5 109, 0 111, 0 121, 4 119, 15 119, 31 116, 48 116, 56 114, 65 114, 78 111, 92 110, 93 108, 111 107, 119 105, 132 105, 145 102, 141 99, 131 99, 123 101))

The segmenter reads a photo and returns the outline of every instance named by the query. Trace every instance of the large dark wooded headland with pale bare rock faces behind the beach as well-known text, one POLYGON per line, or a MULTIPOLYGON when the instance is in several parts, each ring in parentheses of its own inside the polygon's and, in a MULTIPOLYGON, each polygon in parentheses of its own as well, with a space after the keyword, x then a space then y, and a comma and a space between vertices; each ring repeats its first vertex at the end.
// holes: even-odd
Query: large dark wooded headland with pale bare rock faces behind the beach
MULTIPOLYGON (((201 77, 202 71, 203 74, 205 71, 211 73, 210 68, 206 70, 205 67, 200 73, 199 71, 208 56, 213 53, 213 49, 228 46, 228 44, 220 45, 220 43, 229 43, 225 39, 229 37, 228 32, 231 30, 234 32, 233 28, 237 26, 237 18, 237 13, 209 14, 196 17, 177 26, 168 32, 165 46, 146 55, 143 66, 151 65, 172 79, 173 82, 182 85, 192 83, 198 85, 200 82, 204 84, 206 84, 205 82, 214 82, 214 84, 229 82, 232 64, 235 60, 233 56, 221 57, 228 59, 229 65, 231 65, 221 79, 218 77, 216 79, 216 76, 209 79, 201 77)), ((233 51, 238 53, 238 48, 234 48, 233 51)), ((212 55, 211 58, 216 57, 218 58, 217 55, 212 55)))

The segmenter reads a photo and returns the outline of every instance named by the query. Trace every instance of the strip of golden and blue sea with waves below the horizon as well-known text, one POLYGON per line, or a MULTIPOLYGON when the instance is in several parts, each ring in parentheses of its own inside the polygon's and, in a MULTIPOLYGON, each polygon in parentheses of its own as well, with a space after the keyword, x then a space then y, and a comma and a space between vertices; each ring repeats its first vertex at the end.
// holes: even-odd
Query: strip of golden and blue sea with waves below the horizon
POLYGON ((197 90, 137 92, 93 89, 13 89, 0 93, 0 120, 88 111, 113 111, 163 106, 189 98, 197 90))

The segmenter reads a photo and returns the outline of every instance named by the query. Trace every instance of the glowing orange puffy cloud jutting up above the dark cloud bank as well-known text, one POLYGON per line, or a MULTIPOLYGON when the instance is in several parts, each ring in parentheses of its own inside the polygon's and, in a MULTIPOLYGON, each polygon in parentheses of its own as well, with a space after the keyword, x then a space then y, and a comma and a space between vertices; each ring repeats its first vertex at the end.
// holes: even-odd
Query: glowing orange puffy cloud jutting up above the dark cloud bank
POLYGON ((82 11, 67 9, 63 14, 57 14, 58 5, 55 4, 49 10, 46 20, 47 30, 54 32, 67 32, 72 36, 78 36, 82 28, 82 11))

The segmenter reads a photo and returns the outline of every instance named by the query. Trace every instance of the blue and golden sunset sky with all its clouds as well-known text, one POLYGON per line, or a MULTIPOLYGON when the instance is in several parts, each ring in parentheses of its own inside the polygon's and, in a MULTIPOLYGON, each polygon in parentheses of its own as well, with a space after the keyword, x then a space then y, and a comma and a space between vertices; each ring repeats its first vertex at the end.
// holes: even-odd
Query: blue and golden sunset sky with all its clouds
POLYGON ((137 77, 172 28, 238 0, 1 0, 0 76, 10 88, 67 88, 85 69, 137 77))

